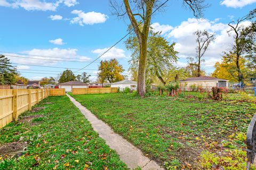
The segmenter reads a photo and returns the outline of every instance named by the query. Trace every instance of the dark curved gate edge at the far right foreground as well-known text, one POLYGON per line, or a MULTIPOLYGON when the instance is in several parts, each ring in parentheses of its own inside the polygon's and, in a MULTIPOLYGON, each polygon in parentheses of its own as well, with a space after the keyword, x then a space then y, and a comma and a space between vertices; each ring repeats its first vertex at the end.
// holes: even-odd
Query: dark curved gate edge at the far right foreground
POLYGON ((249 170, 251 164, 253 164, 253 162, 254 162, 255 154, 256 154, 256 114, 253 116, 251 123, 247 130, 246 145, 247 145, 246 169, 249 170))

